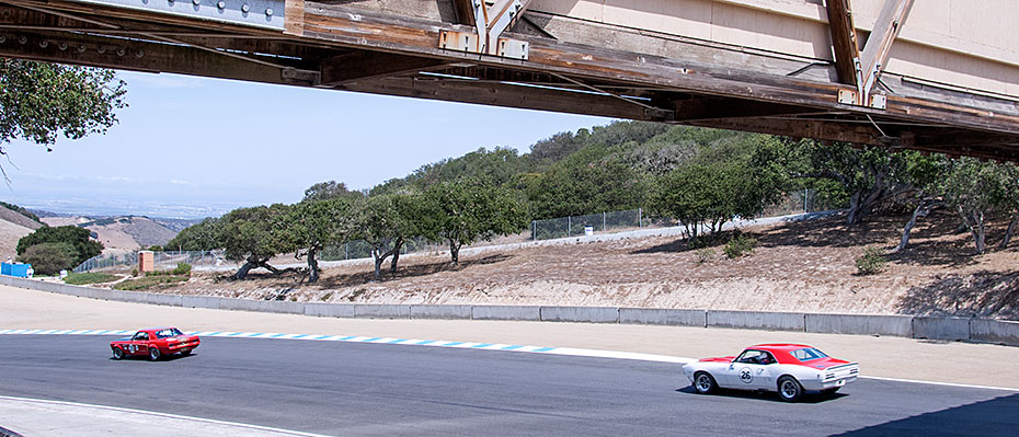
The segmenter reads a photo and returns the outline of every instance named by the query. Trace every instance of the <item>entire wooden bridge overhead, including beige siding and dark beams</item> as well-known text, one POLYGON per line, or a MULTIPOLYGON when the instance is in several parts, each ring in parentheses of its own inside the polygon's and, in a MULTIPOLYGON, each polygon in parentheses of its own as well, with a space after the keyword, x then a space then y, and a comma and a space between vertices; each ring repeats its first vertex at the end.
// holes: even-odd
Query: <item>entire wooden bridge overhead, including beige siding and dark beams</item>
POLYGON ((0 0, 0 56, 1019 161, 1017 22, 1015 0, 0 0))

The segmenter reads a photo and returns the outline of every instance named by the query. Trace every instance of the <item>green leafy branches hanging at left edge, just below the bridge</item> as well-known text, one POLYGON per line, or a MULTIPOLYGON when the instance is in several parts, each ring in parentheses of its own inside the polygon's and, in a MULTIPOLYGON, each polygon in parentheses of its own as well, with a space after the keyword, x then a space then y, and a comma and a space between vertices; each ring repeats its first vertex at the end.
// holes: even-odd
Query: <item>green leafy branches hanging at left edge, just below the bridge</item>
POLYGON ((103 134, 127 106, 125 87, 113 70, 0 58, 0 142, 103 134))

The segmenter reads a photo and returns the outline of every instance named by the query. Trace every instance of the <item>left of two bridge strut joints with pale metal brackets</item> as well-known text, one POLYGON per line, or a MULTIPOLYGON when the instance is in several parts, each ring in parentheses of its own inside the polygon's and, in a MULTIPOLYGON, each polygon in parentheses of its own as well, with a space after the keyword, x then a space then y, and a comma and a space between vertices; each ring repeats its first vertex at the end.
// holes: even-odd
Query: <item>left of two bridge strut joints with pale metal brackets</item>
POLYGON ((439 48, 527 60, 530 45, 526 41, 500 37, 524 13, 525 1, 499 0, 488 5, 484 0, 471 0, 471 5, 477 33, 442 31, 439 48))

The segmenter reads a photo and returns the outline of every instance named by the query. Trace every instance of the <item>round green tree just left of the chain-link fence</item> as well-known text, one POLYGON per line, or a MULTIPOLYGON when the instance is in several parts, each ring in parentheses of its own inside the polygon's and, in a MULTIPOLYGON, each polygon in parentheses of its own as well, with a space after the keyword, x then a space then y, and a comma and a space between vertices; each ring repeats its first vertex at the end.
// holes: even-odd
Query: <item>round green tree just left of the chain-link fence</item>
POLYGON ((425 199, 423 234, 448 243, 453 264, 460 262, 463 244, 527 227, 526 206, 507 188, 470 181, 444 182, 430 186, 425 199))

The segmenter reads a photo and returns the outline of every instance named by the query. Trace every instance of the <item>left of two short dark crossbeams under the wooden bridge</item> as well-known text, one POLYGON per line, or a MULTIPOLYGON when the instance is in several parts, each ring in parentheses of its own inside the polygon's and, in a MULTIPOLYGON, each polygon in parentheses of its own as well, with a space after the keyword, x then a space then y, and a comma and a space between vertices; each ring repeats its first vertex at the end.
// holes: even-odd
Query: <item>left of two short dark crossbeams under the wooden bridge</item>
POLYGON ((320 87, 334 87, 344 82, 416 73, 442 68, 442 59, 419 58, 382 51, 355 51, 334 56, 322 61, 320 87))

